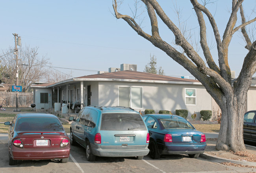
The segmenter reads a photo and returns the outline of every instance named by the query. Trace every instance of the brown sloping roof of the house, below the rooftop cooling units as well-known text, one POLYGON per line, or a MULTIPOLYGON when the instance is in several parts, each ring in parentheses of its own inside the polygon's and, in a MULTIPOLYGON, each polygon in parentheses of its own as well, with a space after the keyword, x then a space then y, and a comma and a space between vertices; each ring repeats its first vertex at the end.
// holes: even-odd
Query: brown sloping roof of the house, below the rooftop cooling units
POLYGON ((75 78, 80 78, 80 79, 105 78, 105 79, 150 80, 150 81, 199 82, 193 79, 183 79, 178 77, 170 77, 165 75, 136 72, 136 71, 130 71, 130 70, 104 73, 104 74, 85 75, 85 76, 75 77, 75 78))

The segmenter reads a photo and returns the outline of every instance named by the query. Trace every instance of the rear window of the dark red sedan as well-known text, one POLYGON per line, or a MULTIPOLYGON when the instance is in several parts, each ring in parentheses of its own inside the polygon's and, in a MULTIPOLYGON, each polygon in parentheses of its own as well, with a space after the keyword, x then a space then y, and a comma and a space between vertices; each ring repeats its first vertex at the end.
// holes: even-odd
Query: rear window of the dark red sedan
POLYGON ((26 117, 20 118, 15 127, 16 131, 64 131, 56 118, 26 117))

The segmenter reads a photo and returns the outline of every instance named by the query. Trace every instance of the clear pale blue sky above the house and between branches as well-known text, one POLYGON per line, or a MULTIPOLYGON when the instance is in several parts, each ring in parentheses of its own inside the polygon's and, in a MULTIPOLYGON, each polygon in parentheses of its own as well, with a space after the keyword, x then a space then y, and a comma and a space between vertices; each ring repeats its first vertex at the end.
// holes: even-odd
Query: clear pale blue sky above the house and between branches
MULTIPOLYGON (((231 2, 232 0, 217 0, 206 6, 215 16, 221 36, 230 15, 231 2)), ((178 24, 174 13, 176 1, 159 0, 159 3, 171 20, 178 24)), ((177 6, 181 11, 181 23, 186 25, 191 35, 198 35, 197 18, 190 1, 177 0, 177 6)), ((133 8, 132 4, 130 7, 133 8)), ((256 16, 255 12, 252 13, 256 0, 245 0, 243 7, 250 19, 256 16)), ((120 10, 122 14, 131 15, 126 4, 120 10)), ((151 53, 156 56, 157 66, 163 68, 165 75, 190 76, 190 79, 194 79, 187 70, 139 36, 124 20, 117 20, 112 13, 112 0, 3 0, 0 5, 0 52, 2 54, 9 46, 15 46, 13 33, 17 33, 21 37, 22 46, 38 47, 39 56, 46 55, 56 70, 66 74, 72 72, 72 77, 108 71, 110 67, 120 68, 123 63, 137 64, 137 71, 143 72, 151 53)), ((144 20, 141 26, 150 34, 147 13, 143 13, 140 16, 142 18, 144 20)), ((205 20, 208 25, 208 40, 213 39, 208 44, 213 45, 211 53, 218 64, 212 29, 208 20, 205 20)), ((238 21, 241 21, 240 18, 238 21)), ((159 26, 160 36, 175 46, 173 34, 163 23, 159 22, 159 26)), ((244 46, 241 33, 237 32, 229 47, 229 65, 231 70, 236 71, 236 76, 239 75, 243 59, 248 53, 244 46)), ((199 54, 202 55, 202 52, 199 51, 199 54)))

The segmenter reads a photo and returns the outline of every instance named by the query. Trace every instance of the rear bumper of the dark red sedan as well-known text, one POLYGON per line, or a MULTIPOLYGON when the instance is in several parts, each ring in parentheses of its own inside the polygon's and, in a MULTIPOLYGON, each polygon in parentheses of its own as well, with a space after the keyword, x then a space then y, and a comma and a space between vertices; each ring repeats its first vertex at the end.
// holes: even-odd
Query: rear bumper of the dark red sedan
POLYGON ((10 153, 13 160, 49 160, 54 158, 69 158, 70 146, 63 148, 35 149, 35 148, 18 148, 13 146, 10 153))

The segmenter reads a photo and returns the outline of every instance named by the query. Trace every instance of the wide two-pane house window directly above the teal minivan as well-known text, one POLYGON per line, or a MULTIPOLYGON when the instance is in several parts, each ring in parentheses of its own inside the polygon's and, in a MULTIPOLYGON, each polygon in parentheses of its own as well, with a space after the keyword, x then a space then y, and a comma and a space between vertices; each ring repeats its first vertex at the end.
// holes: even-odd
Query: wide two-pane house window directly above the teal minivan
POLYGON ((143 108, 142 87, 119 87, 119 106, 143 108))

